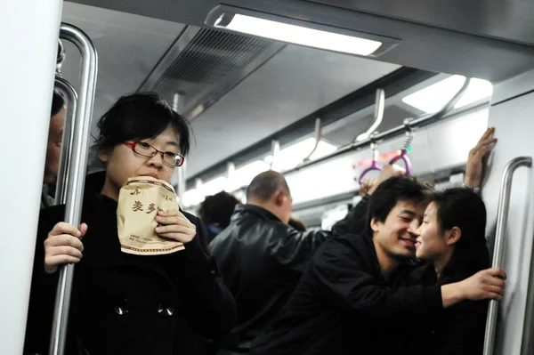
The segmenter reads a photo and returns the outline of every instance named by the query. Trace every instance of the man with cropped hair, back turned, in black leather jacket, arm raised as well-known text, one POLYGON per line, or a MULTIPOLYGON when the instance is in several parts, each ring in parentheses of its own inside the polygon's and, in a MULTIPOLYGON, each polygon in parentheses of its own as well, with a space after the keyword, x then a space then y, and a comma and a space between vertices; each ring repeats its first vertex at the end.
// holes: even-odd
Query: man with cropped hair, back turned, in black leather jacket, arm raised
MULTIPOLYGON (((391 167, 391 166, 390 166, 391 167)), ((384 167, 373 184, 363 184, 372 194, 376 184, 400 171, 384 167)), ((287 303, 303 270, 330 235, 364 229, 369 196, 345 218, 327 230, 298 231, 291 220, 291 194, 283 175, 260 173, 247 189, 247 205, 236 207, 230 226, 210 244, 238 307, 238 324, 223 340, 220 354, 248 353, 255 337, 287 303)))

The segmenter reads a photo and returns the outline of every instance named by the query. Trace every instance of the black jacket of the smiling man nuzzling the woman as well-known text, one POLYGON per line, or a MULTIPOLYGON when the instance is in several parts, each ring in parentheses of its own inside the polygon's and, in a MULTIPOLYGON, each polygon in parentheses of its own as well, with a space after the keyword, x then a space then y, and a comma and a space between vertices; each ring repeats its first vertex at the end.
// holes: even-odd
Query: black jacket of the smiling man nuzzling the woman
POLYGON ((401 266, 386 282, 369 235, 329 238, 250 354, 399 353, 415 339, 397 337, 400 330, 442 310, 440 286, 394 288, 409 270, 401 266))

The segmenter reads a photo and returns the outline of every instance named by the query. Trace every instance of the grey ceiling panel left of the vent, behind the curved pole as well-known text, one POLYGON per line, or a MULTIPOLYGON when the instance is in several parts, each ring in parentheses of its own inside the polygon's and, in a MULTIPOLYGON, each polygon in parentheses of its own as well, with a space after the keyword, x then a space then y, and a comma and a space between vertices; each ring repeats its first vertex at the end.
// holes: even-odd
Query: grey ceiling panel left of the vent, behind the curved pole
MULTIPOLYGON (((63 4, 61 20, 83 29, 98 52, 93 125, 118 97, 135 92, 183 28, 179 23, 69 2, 63 4)), ((77 87, 80 55, 73 44, 64 44, 67 57, 61 71, 77 87)))

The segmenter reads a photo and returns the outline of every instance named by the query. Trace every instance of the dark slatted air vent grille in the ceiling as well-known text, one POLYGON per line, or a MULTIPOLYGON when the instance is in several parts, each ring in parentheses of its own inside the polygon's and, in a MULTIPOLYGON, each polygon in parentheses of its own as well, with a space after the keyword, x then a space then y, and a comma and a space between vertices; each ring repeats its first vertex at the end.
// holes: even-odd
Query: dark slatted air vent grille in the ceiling
POLYGON ((196 34, 187 44, 180 44, 180 38, 174 44, 183 48, 177 55, 171 50, 166 53, 167 57, 174 56, 166 58, 170 65, 154 84, 145 88, 169 102, 174 101, 174 93, 179 93, 178 109, 190 119, 213 105, 283 47, 269 40, 217 29, 194 30, 196 34))

